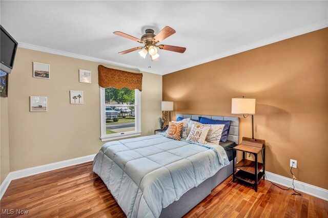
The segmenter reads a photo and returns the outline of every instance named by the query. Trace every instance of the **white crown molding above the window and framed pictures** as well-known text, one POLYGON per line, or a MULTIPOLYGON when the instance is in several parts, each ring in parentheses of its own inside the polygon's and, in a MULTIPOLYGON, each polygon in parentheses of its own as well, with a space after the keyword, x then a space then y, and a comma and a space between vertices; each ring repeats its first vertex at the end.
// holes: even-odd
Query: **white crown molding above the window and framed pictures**
POLYGON ((18 47, 23 48, 23 49, 30 49, 30 50, 34 50, 34 51, 39 51, 39 52, 46 52, 46 53, 55 54, 55 55, 61 55, 61 56, 66 56, 66 57, 72 57, 72 58, 77 58, 77 59, 82 59, 82 60, 89 60, 89 61, 93 61, 93 62, 109 64, 111 66, 131 69, 131 70, 140 71, 140 72, 146 72, 146 73, 153 73, 153 74, 161 75, 160 73, 150 72, 149 70, 143 69, 143 68, 139 69, 139 68, 136 68, 134 66, 124 64, 124 63, 117 63, 117 62, 110 61, 110 60, 104 60, 104 59, 100 59, 100 58, 89 57, 89 56, 85 56, 85 55, 79 55, 79 54, 60 51, 60 50, 56 50, 56 49, 50 49, 50 48, 46 48, 46 47, 42 47, 42 46, 35 46, 35 45, 31 45, 31 44, 28 44, 28 43, 25 43, 25 42, 18 42, 18 47))

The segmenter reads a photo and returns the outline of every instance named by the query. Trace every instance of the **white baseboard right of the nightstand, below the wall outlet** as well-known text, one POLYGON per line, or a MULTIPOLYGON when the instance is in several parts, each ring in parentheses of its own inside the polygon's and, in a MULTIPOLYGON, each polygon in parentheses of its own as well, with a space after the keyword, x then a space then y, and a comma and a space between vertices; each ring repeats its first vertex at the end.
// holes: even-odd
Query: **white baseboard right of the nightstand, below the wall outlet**
MULTIPOLYGON (((265 176, 267 179, 271 182, 277 183, 279 185, 283 185, 286 187, 293 187, 293 180, 287 177, 283 177, 280 175, 277 175, 272 172, 265 171, 265 176)), ((310 185, 307 183, 303 183, 297 180, 294 180, 294 186, 295 190, 301 191, 306 194, 310 194, 314 197, 317 197, 319 199, 323 199, 325 201, 328 201, 328 190, 324 188, 320 188, 314 185, 310 185)))

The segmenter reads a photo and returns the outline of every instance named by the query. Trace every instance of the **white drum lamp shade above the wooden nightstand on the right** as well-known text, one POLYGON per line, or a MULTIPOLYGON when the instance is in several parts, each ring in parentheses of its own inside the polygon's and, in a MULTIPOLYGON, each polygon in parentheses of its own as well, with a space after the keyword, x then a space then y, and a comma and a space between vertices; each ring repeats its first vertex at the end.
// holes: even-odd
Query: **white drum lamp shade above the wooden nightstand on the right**
POLYGON ((255 114, 255 98, 232 98, 231 114, 255 114))

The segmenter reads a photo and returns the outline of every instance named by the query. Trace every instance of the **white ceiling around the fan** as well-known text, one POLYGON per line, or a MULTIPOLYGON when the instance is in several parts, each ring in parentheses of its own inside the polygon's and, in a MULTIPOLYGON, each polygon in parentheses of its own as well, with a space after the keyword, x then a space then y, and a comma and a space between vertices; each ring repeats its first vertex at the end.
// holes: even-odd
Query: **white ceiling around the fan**
POLYGON ((326 1, 1 1, 0 4, 1 25, 23 48, 76 54, 161 75, 328 26, 326 1), (151 68, 149 59, 141 58, 138 52, 117 54, 140 44, 114 35, 114 31, 140 38, 149 27, 156 34, 165 26, 176 33, 162 43, 186 47, 185 53, 159 50, 159 60, 151 62, 151 68))

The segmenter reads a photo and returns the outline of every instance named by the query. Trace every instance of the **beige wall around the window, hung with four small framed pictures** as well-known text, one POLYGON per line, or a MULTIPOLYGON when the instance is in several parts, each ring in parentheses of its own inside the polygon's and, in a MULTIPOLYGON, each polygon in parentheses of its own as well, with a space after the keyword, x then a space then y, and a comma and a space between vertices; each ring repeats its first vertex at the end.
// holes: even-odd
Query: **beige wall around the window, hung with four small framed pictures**
MULTIPOLYGON (((105 143, 99 140, 98 64, 18 49, 8 91, 10 171, 98 152, 105 143), (33 78, 33 61, 50 64, 51 79, 33 78), (79 83, 78 69, 92 71, 92 84, 79 83), (70 90, 83 91, 84 104, 70 104, 70 90), (29 96, 47 96, 48 112, 29 112, 29 96)), ((161 91, 162 76, 144 73, 142 135, 153 134, 159 126, 161 91)))

